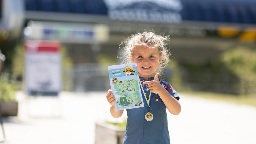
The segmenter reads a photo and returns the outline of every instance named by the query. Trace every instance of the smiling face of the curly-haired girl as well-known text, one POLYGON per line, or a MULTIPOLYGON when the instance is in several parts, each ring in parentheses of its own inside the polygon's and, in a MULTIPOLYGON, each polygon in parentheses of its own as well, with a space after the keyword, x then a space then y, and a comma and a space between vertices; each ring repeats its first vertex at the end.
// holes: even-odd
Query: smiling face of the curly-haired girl
POLYGON ((158 64, 162 62, 157 48, 148 48, 145 46, 136 46, 131 56, 133 63, 137 63, 139 76, 147 80, 155 76, 158 64))

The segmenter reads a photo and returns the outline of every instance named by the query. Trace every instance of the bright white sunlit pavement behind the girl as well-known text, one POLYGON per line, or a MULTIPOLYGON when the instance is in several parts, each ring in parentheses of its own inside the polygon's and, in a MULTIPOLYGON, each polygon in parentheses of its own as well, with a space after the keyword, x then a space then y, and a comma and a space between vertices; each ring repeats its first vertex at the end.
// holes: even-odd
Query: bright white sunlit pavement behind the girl
MULTIPOLYGON (((95 123, 112 118, 105 92, 59 97, 17 93, 17 117, 4 119, 4 144, 94 144, 95 123)), ((180 94, 181 113, 168 114, 172 144, 254 144, 256 108, 180 94)), ((0 135, 2 136, 2 135, 0 135)))

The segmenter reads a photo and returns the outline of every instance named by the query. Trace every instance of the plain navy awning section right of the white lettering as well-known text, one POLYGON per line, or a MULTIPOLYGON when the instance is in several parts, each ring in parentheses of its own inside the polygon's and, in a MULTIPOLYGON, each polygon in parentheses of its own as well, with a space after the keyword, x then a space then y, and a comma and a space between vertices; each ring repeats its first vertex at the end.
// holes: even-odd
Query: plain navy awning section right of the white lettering
POLYGON ((184 20, 256 23, 255 0, 181 0, 184 20))

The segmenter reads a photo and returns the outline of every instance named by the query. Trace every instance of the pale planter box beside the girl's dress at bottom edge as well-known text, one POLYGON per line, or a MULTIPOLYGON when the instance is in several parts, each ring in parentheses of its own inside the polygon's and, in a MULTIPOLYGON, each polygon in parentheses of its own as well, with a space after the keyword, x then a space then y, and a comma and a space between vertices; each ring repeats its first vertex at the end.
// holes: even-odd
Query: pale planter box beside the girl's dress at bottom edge
POLYGON ((125 129, 108 123, 96 123, 95 144, 122 144, 125 129))

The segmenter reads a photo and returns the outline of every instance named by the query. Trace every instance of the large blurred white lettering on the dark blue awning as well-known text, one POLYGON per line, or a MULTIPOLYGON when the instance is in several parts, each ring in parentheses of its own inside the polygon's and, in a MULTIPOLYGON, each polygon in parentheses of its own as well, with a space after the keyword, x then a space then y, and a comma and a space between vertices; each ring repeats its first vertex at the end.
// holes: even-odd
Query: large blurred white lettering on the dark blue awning
POLYGON ((180 23, 180 0, 104 0, 110 19, 153 23, 180 23))

